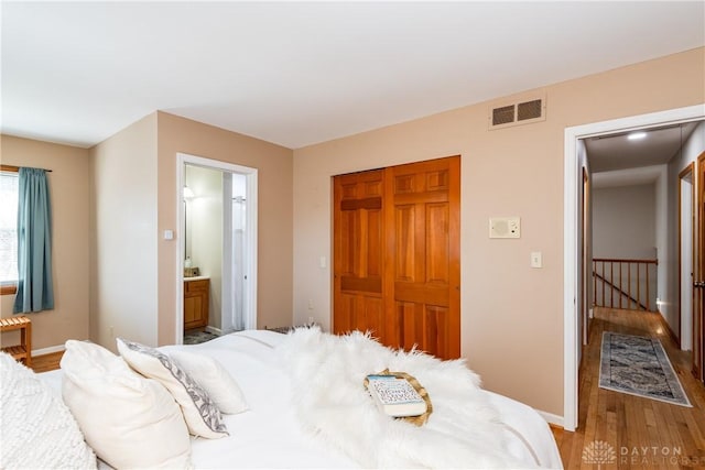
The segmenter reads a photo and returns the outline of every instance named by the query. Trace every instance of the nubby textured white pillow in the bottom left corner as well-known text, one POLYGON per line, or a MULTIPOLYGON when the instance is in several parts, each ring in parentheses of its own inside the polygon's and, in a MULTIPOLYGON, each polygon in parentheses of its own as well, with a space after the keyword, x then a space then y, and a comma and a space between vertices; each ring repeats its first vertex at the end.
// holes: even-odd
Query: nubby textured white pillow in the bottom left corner
POLYGON ((6 352, 0 384, 0 468, 96 468, 96 455, 56 391, 6 352))

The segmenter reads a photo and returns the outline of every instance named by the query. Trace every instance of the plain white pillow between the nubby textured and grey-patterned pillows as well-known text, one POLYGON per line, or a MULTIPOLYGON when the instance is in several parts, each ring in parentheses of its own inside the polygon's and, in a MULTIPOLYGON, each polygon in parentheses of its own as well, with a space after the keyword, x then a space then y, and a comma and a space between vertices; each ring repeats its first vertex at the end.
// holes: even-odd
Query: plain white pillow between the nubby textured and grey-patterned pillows
POLYGON ((113 468, 188 468, 191 439, 158 381, 101 346, 66 341, 62 394, 98 457, 113 468))

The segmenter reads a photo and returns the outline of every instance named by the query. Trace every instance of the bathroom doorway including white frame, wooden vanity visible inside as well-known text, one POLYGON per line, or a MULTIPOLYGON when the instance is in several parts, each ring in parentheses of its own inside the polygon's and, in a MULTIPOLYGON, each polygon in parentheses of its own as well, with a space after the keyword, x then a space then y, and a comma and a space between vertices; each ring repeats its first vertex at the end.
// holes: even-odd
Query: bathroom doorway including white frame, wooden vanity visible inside
POLYGON ((256 168, 177 154, 175 343, 257 328, 256 168))

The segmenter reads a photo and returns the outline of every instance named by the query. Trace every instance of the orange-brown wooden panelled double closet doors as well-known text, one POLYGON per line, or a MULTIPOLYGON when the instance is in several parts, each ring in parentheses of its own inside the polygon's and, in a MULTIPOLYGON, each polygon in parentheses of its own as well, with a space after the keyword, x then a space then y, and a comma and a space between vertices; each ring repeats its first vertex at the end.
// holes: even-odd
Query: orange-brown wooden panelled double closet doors
POLYGON ((333 331, 460 356, 460 157, 334 177, 333 331))

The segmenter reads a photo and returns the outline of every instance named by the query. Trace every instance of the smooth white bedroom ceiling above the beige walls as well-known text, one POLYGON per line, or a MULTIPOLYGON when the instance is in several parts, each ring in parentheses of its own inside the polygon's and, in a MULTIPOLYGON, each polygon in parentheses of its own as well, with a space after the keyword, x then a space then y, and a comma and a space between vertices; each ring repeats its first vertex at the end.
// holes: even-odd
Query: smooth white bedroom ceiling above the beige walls
POLYGON ((164 110, 286 147, 705 45, 705 2, 8 2, 1 131, 164 110))

